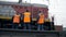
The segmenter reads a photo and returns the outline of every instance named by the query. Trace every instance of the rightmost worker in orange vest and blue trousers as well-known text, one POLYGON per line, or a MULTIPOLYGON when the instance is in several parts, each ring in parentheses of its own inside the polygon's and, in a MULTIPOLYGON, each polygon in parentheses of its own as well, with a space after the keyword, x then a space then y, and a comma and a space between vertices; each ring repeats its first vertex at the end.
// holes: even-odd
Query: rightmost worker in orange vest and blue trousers
POLYGON ((37 29, 43 30, 43 24, 44 24, 44 14, 40 11, 38 13, 38 21, 37 21, 37 29))

